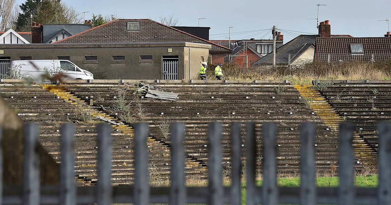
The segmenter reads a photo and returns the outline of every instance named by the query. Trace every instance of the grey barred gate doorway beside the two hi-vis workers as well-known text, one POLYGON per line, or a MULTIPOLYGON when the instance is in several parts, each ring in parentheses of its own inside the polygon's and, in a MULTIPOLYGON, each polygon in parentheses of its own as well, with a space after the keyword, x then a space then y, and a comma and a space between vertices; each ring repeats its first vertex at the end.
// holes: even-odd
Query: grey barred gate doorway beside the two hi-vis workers
POLYGON ((178 55, 163 55, 161 79, 178 80, 179 58, 178 55))

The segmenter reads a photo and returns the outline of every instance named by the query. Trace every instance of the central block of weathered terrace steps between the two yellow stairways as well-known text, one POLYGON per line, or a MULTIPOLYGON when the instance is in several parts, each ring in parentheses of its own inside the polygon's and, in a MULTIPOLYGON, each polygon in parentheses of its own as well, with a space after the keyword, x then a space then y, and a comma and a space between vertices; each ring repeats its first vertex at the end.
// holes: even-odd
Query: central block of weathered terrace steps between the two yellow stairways
MULTIPOLYGON (((150 132, 156 139, 169 143, 167 124, 172 121, 186 123, 185 141, 187 155, 208 164, 207 125, 210 121, 224 124, 223 149, 224 164, 230 167, 230 130, 232 121, 254 121, 257 123, 258 153, 260 150, 261 124, 277 122, 278 130, 278 172, 292 175, 299 171, 299 125, 312 121, 317 125, 317 168, 320 173, 330 170, 330 164, 337 162, 337 135, 315 112, 308 107, 297 89, 285 82, 270 83, 160 83, 164 91, 179 93, 176 101, 141 99, 134 95, 134 87, 118 83, 68 84, 66 88, 78 98, 93 96, 94 105, 111 107, 114 110, 118 100, 130 103, 135 121, 150 123, 150 132)), ((87 100, 86 102, 89 102, 87 100)), ((117 106, 118 107, 118 106, 117 106)), ((124 116, 124 112, 118 112, 124 116)), ((243 127, 243 148, 245 149, 243 127)), ((258 158, 258 168, 262 157, 258 158)), ((229 174, 229 173, 227 173, 229 174)))

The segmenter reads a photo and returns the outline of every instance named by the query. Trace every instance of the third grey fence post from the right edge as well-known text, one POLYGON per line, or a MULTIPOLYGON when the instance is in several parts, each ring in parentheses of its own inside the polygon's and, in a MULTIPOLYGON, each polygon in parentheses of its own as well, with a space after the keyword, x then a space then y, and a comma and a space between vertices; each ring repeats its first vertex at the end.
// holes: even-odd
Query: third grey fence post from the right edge
POLYGON ((316 128, 314 123, 300 125, 300 201, 302 205, 316 204, 315 151, 316 128))

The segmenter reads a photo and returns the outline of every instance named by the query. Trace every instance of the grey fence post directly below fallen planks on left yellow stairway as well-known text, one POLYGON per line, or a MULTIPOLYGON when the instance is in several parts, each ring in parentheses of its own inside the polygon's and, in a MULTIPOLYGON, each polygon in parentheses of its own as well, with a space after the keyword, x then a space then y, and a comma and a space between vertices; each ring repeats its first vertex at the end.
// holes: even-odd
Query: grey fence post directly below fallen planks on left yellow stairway
POLYGON ((111 125, 100 123, 98 130, 98 187, 97 202, 101 205, 111 205, 111 125))

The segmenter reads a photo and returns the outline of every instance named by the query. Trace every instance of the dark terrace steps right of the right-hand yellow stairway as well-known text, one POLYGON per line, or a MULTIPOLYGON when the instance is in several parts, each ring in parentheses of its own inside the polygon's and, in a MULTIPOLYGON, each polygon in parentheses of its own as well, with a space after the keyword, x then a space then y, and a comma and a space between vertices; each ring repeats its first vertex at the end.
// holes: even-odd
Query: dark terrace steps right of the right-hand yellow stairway
POLYGON ((340 80, 320 83, 331 83, 321 93, 339 115, 355 124, 357 134, 373 152, 371 160, 376 162, 377 123, 391 118, 391 81, 340 80))

